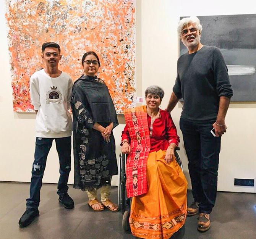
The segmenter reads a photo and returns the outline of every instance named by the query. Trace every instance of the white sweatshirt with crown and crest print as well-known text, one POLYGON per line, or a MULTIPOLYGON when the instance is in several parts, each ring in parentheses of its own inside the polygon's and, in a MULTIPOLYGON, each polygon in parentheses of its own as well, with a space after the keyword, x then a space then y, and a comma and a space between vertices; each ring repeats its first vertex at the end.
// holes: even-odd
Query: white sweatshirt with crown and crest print
POLYGON ((64 72, 56 78, 47 75, 44 69, 30 78, 30 96, 36 115, 36 137, 62 138, 71 136, 72 119, 70 98, 73 81, 64 72))

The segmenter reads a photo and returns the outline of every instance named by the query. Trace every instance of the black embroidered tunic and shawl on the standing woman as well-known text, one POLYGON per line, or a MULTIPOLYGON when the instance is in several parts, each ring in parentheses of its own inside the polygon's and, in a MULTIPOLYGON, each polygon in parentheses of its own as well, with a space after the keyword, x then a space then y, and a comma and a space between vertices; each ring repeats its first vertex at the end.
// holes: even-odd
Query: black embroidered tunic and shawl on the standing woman
POLYGON ((98 189, 110 184, 112 175, 118 174, 113 133, 110 142, 104 141, 94 123, 103 127, 113 122, 118 125, 117 114, 109 90, 97 77, 81 76, 73 86, 71 97, 73 112, 73 149, 76 189, 98 189))

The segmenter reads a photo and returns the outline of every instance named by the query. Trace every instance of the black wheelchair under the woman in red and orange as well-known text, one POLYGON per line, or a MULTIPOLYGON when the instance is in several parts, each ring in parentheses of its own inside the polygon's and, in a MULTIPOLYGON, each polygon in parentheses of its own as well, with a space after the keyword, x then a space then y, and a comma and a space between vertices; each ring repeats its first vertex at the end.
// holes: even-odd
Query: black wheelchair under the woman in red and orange
MULTIPOLYGON (((180 156, 177 152, 177 150, 180 150, 179 147, 175 149, 175 157, 178 165, 180 165, 181 170, 183 171, 182 162, 180 160, 180 156)), ((123 214, 123 220, 122 220, 122 228, 124 231, 130 230, 130 223, 129 223, 129 217, 130 217, 130 208, 131 208, 131 198, 127 197, 125 183, 126 183, 126 159, 127 155, 120 153, 119 159, 118 159, 118 207, 119 210, 123 214)))

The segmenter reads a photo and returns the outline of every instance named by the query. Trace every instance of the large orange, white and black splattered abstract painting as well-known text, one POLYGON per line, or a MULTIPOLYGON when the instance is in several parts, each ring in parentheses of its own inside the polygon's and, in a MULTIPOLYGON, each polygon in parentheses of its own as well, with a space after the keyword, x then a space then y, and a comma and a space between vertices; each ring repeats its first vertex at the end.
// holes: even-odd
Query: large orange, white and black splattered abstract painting
POLYGON ((117 113, 135 106, 135 0, 6 0, 13 108, 31 112, 29 78, 44 67, 41 47, 57 42, 60 69, 73 80, 81 58, 98 53, 98 76, 109 87, 117 113))

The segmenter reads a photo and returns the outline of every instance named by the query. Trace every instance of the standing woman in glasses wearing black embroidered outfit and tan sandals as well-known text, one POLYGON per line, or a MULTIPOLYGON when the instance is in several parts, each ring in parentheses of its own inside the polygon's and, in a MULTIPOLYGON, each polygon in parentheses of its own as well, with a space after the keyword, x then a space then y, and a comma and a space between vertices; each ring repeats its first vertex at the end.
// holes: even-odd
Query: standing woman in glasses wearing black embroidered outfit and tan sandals
POLYGON ((112 129, 117 114, 104 81, 97 78, 100 62, 95 52, 82 58, 85 75, 75 81, 71 97, 73 112, 74 187, 86 191, 88 204, 96 211, 104 206, 116 212, 109 200, 112 175, 118 174, 112 129), (97 189, 101 188, 101 202, 97 189), (104 206, 103 206, 103 205, 104 206))

